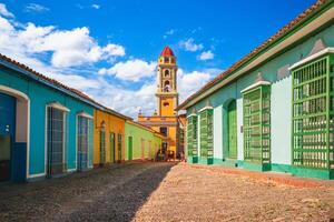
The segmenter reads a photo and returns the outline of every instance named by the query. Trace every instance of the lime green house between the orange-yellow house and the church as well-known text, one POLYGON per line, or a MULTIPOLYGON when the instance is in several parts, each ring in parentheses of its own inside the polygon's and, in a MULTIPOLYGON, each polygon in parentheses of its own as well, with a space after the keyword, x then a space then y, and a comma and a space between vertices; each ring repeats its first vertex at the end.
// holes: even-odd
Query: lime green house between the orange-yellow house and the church
POLYGON ((155 160, 161 149, 160 133, 135 121, 126 121, 126 160, 155 160))

